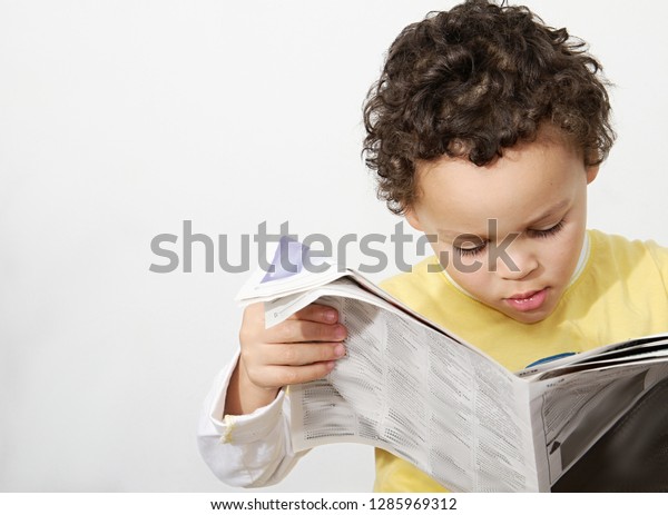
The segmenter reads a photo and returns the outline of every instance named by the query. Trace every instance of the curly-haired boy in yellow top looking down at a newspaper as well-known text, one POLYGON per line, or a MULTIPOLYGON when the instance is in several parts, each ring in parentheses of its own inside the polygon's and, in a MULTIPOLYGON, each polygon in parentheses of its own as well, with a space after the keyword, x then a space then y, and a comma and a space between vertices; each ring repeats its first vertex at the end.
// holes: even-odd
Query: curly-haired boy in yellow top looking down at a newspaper
MULTIPOLYGON (((525 8, 470 0, 406 27, 366 100, 364 149, 379 196, 435 236, 435 256, 383 287, 512 370, 668 331, 668 250, 586 230, 609 111, 600 65, 525 8)), ((345 355, 331 308, 269 329, 263 315, 246 309, 200 429, 205 460, 238 486, 289 472, 299 455, 283 388, 345 355)), ((443 486, 376 449, 375 489, 443 486)))

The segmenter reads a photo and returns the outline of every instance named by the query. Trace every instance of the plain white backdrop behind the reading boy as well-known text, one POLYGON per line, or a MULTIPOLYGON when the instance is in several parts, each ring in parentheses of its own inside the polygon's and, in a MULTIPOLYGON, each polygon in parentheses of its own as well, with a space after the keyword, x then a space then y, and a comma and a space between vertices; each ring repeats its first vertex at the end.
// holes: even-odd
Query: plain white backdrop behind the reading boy
MULTIPOLYGON (((589 41, 616 83, 590 227, 668 245, 668 8, 527 3, 589 41)), ((193 220, 228 235, 236 263, 265 220, 390 235, 361 105, 399 31, 452 4, 0 1, 1 491, 234 491, 195 428, 247 274, 205 273, 200 247, 191 274, 150 273, 165 264, 150 240, 180 242, 193 220)), ((271 489, 369 491, 372 455, 316 449, 271 489)))

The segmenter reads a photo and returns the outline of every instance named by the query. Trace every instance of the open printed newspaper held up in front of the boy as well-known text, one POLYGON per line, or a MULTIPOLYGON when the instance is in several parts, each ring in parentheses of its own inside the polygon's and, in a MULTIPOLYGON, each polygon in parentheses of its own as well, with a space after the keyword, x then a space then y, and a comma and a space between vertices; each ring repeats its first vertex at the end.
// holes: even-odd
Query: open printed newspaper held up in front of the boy
POLYGON ((510 373, 355 270, 286 271, 278 258, 288 248, 299 255, 282 240, 274 270, 258 270, 237 299, 264 301, 267 326, 317 300, 348 334, 347 356, 327 377, 289 388, 296 450, 361 443, 451 491, 549 492, 668 377, 668 334, 510 373))

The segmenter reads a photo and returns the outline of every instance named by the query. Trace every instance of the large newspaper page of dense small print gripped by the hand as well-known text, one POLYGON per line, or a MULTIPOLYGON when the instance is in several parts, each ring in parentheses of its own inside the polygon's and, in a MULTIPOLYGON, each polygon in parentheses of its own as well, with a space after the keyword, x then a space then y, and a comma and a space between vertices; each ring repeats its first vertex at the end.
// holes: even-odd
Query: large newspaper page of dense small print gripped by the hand
POLYGON ((540 488, 525 382, 347 279, 267 303, 268 318, 315 298, 338 309, 347 357, 289 388, 295 449, 362 443, 452 491, 540 488))

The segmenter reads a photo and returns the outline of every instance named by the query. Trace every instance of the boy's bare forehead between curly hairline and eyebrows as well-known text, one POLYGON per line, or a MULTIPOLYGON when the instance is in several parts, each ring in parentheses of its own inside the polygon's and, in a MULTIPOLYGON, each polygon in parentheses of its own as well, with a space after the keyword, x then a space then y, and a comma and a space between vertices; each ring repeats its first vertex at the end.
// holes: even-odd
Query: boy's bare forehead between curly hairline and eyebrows
POLYGON ((416 211, 439 226, 479 231, 490 218, 520 224, 568 204, 586 184, 586 167, 563 139, 542 137, 483 167, 448 156, 420 162, 416 178, 416 211))

